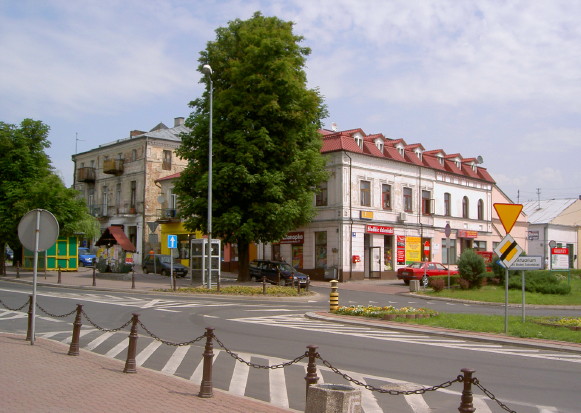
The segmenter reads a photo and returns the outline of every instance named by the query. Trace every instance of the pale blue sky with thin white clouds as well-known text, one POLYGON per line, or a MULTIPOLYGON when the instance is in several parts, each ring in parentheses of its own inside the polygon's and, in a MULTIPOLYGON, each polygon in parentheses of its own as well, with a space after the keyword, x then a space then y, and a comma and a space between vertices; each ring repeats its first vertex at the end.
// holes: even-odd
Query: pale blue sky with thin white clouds
POLYGON ((421 143, 482 167, 515 202, 581 195, 581 1, 0 0, 0 121, 50 126, 71 156, 188 117, 215 30, 295 23, 330 129, 421 143))

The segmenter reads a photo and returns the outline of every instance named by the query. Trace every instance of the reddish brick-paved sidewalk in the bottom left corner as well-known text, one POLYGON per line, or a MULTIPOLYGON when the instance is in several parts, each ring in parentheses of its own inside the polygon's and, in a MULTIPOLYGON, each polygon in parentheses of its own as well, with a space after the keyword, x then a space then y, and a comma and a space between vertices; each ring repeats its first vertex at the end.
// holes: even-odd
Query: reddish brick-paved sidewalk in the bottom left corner
POLYGON ((200 398, 199 383, 143 367, 123 373, 124 363, 80 350, 68 356, 68 346, 21 335, 0 333, 0 411, 16 412, 217 412, 282 413, 248 397, 214 389, 200 398))

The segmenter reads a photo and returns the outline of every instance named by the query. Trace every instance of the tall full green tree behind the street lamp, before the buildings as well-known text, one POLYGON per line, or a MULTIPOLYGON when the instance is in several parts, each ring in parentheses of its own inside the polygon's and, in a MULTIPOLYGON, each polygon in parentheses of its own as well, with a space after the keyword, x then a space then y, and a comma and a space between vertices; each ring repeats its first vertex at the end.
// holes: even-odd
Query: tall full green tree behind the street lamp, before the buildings
MULTIPOLYGON (((213 81, 212 234, 237 243, 240 281, 249 279, 252 242, 281 239, 309 222, 317 185, 327 179, 318 133, 326 107, 304 71, 310 49, 293 23, 255 13, 216 30, 200 53, 213 81)), ((178 155, 188 167, 176 183, 190 230, 207 230, 209 77, 192 102, 178 155)))

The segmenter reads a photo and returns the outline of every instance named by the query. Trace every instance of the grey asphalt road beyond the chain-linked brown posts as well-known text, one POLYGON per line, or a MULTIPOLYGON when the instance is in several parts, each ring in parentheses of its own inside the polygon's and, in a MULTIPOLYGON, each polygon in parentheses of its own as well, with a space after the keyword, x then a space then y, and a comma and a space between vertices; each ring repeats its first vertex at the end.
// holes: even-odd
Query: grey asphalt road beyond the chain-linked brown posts
MULTIPOLYGON (((555 351, 523 349, 518 346, 485 345, 469 340, 454 340, 431 334, 410 334, 380 330, 374 327, 354 327, 341 323, 308 320, 304 314, 325 311, 328 308, 328 289, 320 288, 321 295, 304 301, 260 300, 226 297, 183 297, 129 292, 76 291, 62 288, 39 288, 38 303, 50 313, 58 315, 70 312, 75 304, 84 305, 92 321, 105 328, 124 324, 132 313, 139 313, 141 322, 157 336, 173 342, 183 342, 200 336, 206 327, 215 328, 215 334, 229 349, 246 355, 255 363, 276 364, 277 360, 289 360, 303 354, 307 345, 317 345, 321 357, 342 372, 368 385, 387 386, 395 389, 431 387, 454 380, 462 368, 476 370, 475 376, 487 391, 518 412, 579 412, 581 399, 578 393, 579 354, 555 351), (392 387, 390 387, 392 386, 392 387)), ((20 306, 30 293, 30 287, 0 282, 0 299, 10 307, 20 306)), ((418 302, 417 298, 369 292, 342 291, 342 304, 353 302, 382 305, 415 305, 449 312, 495 312, 503 309, 490 306, 466 306, 445 302, 418 302)), ((520 314, 519 309, 513 309, 520 314)), ((551 310, 555 312, 565 310, 551 310)), ((527 311, 532 314, 531 311, 527 311)), ((66 339, 70 335, 71 321, 47 317, 39 312, 37 334, 66 339)), ((578 314, 577 314, 578 316, 578 314)), ((88 327, 88 326, 85 326, 88 327)), ((24 332, 25 318, 10 318, 0 314, 0 329, 24 332)), ((82 345, 94 346, 94 351, 106 354, 115 345, 115 337, 127 332, 103 338, 99 331, 87 332, 82 345), (89 341, 90 340, 90 341, 89 341), (99 341, 102 340, 102 341, 99 341), (92 344, 91 344, 92 343, 92 344)), ((88 330, 87 330, 88 331, 88 330)), ((121 340, 122 338, 118 338, 121 340)), ((172 358, 166 346, 156 347, 144 362, 144 367, 163 369, 165 358, 172 358)), ((192 346, 196 347, 196 346, 192 346)), ((140 354, 147 353, 146 340, 140 343, 140 354)), ((171 349, 173 351, 173 349, 171 349)), ((200 348, 192 352, 201 353, 200 348)), ((221 350, 217 348, 217 350, 221 350)), ((231 391, 263 400, 287 403, 289 407, 304 408, 304 366, 285 369, 285 395, 282 397, 271 383, 274 372, 261 376, 256 369, 246 372, 244 389, 232 377, 240 377, 235 361, 224 356, 216 359, 215 385, 231 391), (234 384, 233 384, 234 383, 234 384), (271 386, 269 388, 269 386, 271 386), (274 393, 274 395, 273 395, 274 393), (299 396, 295 396, 299 395, 299 396)), ((142 356, 145 358, 145 356, 142 356)), ((190 376, 193 362, 184 359, 175 374, 190 376), (181 370, 180 370, 181 369, 181 370), (180 373, 181 372, 181 373, 180 373)), ((321 364, 320 362, 318 363, 321 364)), ((320 366, 322 367, 322 366, 320 366)), ((321 368, 320 376, 328 383, 345 383, 344 378, 329 369, 321 368)), ((188 377, 189 378, 189 377, 188 377)), ((238 380, 240 381, 240 380, 238 380)), ((280 390, 280 389, 279 389, 280 390)), ((363 408, 366 413, 456 411, 460 403, 461 385, 425 395, 387 396, 364 392, 363 408), (389 406, 389 407, 388 407, 389 406), (432 409, 432 410, 429 410, 432 409)), ((483 396, 477 398, 480 412, 503 411, 495 402, 483 396)))

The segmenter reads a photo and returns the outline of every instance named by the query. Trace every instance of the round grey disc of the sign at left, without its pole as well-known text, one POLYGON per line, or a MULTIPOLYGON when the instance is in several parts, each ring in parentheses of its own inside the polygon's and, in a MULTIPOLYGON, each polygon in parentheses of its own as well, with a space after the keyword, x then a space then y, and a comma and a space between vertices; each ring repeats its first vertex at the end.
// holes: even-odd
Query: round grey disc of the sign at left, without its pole
POLYGON ((45 209, 28 211, 18 224, 18 238, 22 245, 30 251, 34 251, 36 248, 36 231, 38 231, 38 251, 45 251, 58 238, 58 221, 53 214, 45 209))

